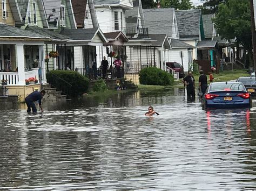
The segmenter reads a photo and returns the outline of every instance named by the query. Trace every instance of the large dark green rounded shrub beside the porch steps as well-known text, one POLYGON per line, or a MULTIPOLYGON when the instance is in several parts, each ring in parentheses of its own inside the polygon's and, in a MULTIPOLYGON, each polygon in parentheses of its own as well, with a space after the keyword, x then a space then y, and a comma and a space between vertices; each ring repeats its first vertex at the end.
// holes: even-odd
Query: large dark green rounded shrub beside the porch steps
POLYGON ((73 97, 83 95, 89 88, 89 79, 72 70, 51 70, 46 75, 46 79, 47 82, 64 92, 67 86, 63 80, 69 82, 71 84, 70 93, 73 97))

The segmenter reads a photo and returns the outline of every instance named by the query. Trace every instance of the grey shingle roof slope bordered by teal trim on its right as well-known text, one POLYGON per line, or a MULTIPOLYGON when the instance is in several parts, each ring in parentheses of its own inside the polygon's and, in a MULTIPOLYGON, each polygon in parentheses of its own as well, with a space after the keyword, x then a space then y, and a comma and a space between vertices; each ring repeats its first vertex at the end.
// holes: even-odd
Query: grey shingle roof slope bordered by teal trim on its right
POLYGON ((175 11, 180 38, 199 38, 201 10, 175 11))

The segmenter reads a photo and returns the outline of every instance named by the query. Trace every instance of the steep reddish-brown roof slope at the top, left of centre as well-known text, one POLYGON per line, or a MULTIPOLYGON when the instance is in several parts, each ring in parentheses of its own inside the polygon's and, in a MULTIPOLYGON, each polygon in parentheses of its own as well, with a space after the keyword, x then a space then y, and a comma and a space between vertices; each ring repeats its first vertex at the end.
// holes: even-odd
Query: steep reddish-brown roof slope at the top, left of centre
POLYGON ((87 0, 72 0, 72 7, 74 11, 74 16, 76 19, 77 26, 84 26, 84 19, 85 19, 85 10, 86 10, 87 0))

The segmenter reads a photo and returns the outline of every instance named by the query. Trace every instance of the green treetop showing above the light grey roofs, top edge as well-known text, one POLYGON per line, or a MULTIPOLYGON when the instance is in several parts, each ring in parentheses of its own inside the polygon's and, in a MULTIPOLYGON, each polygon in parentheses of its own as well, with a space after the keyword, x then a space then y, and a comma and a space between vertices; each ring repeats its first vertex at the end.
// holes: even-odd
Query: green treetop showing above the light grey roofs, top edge
POLYGON ((192 8, 190 0, 160 0, 161 8, 175 8, 176 10, 188 10, 192 8))

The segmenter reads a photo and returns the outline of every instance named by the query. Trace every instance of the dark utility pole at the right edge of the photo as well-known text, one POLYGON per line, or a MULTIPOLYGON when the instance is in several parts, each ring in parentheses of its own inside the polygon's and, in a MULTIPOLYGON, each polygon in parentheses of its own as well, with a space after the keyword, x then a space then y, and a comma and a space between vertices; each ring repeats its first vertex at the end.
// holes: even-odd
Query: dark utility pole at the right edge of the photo
POLYGON ((255 31, 255 19, 254 19, 254 7, 253 7, 254 3, 256 3, 256 0, 250 0, 250 4, 251 4, 252 47, 253 47, 253 68, 254 68, 254 72, 255 72, 255 68, 256 68, 256 31, 255 31))

